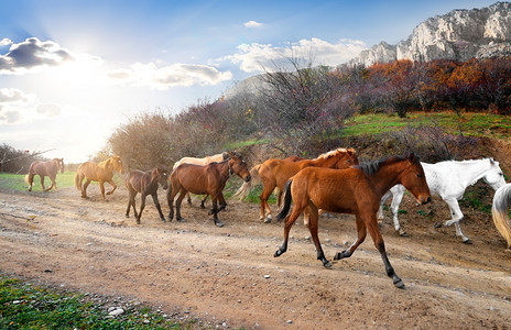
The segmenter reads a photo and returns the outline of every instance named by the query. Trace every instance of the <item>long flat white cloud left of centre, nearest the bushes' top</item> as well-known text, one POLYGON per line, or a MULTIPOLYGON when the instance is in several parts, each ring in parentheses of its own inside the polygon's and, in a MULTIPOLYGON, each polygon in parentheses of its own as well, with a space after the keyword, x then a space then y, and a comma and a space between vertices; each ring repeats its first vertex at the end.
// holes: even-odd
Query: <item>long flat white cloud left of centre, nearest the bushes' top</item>
POLYGON ((232 78, 230 72, 219 72, 208 65, 172 64, 157 67, 154 63, 135 63, 129 69, 108 73, 112 80, 167 90, 176 86, 217 85, 232 78))

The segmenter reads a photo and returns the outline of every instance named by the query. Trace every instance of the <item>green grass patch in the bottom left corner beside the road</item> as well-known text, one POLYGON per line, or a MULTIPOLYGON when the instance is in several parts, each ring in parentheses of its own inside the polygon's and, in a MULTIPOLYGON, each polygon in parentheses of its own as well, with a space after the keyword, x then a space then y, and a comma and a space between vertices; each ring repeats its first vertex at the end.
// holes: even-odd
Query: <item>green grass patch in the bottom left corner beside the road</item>
POLYGON ((148 306, 108 316, 104 302, 0 276, 0 329, 192 329, 196 320, 176 322, 148 306))

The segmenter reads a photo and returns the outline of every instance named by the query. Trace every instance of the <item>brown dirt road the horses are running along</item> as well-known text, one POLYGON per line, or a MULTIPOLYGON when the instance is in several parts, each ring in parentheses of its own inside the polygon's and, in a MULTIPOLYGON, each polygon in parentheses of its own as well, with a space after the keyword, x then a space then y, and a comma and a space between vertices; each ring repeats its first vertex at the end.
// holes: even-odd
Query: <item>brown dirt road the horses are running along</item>
MULTIPOLYGON (((225 227, 216 228, 197 200, 183 207, 186 222, 162 223, 148 198, 142 223, 135 224, 124 217, 123 187, 107 202, 98 186, 88 194, 84 200, 74 188, 30 194, 0 188, 0 272, 146 301, 231 328, 511 327, 511 254, 488 213, 464 209, 464 232, 474 241, 465 245, 454 228, 433 228, 448 218, 442 201, 402 205, 410 238, 398 237, 390 219, 382 228, 389 258, 406 285, 398 289, 369 237, 350 258, 326 270, 300 220, 287 252, 273 257, 282 223, 259 221, 257 205, 228 200, 219 215, 225 227), (423 216, 430 211, 433 218, 423 216)), ((319 226, 330 260, 356 238, 350 216, 322 217, 319 226)))

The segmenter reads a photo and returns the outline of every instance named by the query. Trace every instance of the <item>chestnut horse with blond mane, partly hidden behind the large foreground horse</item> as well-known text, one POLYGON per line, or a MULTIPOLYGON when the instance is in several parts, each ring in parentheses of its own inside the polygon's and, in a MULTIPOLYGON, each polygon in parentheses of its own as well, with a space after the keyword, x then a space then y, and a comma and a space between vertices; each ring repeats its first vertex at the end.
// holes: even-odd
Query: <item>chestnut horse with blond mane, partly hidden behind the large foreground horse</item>
MULTIPOLYGON (((263 190, 259 198, 261 199, 261 211, 259 219, 267 219, 264 222, 271 222, 271 209, 268 205, 268 199, 275 187, 280 191, 284 190, 285 183, 296 173, 305 167, 329 167, 329 168, 347 168, 351 165, 357 165, 358 158, 352 148, 337 148, 328 153, 319 155, 315 160, 303 160, 297 162, 270 158, 261 164, 259 176, 263 185, 263 190)), ((278 198, 280 200, 280 196, 278 198)))

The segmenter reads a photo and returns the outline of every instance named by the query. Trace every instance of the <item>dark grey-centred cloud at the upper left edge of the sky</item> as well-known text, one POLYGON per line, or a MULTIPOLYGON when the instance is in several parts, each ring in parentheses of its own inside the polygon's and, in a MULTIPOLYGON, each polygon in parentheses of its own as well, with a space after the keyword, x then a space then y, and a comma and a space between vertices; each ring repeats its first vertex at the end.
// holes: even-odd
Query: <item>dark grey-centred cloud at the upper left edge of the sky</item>
MULTIPOLYGON (((3 38, 3 42, 10 42, 10 40, 3 38)), ((57 66, 73 59, 70 52, 57 43, 29 37, 19 44, 11 44, 9 52, 0 55, 0 74, 19 75, 42 67, 57 66)))

